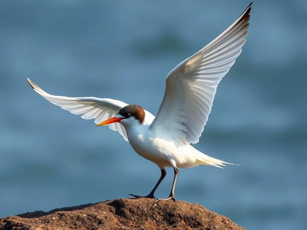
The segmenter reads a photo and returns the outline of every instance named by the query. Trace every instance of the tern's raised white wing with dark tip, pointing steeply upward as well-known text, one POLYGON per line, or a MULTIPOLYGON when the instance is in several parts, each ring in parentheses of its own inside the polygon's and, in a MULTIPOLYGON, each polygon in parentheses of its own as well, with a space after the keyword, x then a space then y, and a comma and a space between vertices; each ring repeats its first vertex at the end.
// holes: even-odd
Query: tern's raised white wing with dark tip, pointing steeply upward
POLYGON ((251 4, 220 36, 181 62, 166 77, 165 93, 150 129, 180 145, 197 143, 208 121, 216 88, 240 55, 251 4))

